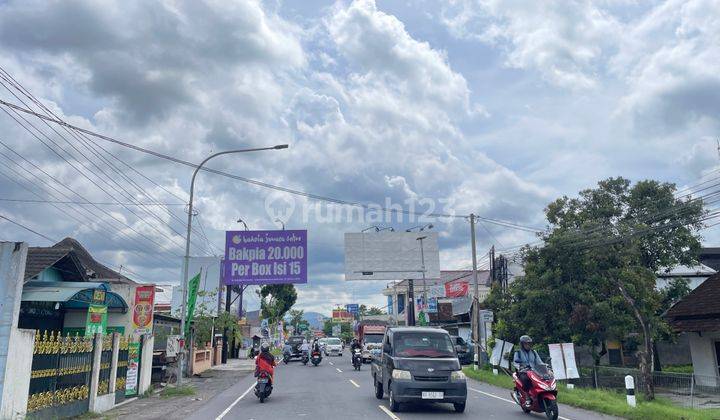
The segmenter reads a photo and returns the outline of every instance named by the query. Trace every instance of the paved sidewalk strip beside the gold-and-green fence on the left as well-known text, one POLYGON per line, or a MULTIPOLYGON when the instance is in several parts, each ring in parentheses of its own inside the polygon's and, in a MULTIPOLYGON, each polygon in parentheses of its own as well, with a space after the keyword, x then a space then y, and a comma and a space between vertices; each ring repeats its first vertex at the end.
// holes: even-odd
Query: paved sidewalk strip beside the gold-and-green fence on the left
MULTIPOLYGON (((194 395, 162 397, 161 393, 153 393, 147 398, 138 398, 120 407, 102 413, 103 419, 172 419, 186 418, 208 400, 230 388, 255 370, 253 359, 230 359, 225 365, 213 366, 199 376, 190 378, 190 385, 195 388, 194 395)), ((185 379, 187 384, 188 379, 185 379)))

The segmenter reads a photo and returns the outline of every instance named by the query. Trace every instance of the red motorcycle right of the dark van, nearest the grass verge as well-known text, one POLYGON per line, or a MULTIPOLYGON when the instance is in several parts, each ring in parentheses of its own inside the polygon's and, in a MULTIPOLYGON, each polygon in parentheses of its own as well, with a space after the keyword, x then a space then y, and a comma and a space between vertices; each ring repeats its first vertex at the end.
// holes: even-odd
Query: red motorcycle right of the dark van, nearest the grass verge
POLYGON ((512 392, 512 398, 522 408, 525 413, 534 411, 536 413, 545 413, 548 420, 557 420, 557 385, 552 370, 547 365, 537 365, 534 368, 523 368, 521 372, 527 373, 530 379, 529 395, 523 388, 519 372, 513 373, 513 382, 515 388, 512 392), (531 404, 527 405, 528 396, 531 398, 531 404))

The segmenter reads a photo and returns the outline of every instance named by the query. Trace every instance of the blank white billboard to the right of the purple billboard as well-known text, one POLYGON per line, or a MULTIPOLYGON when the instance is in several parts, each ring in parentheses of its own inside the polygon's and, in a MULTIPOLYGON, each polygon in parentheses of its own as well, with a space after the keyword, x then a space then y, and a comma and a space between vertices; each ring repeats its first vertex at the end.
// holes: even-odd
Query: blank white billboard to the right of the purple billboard
POLYGON ((440 278, 436 232, 370 232, 345 234, 345 280, 423 278, 420 237, 425 278, 440 278))

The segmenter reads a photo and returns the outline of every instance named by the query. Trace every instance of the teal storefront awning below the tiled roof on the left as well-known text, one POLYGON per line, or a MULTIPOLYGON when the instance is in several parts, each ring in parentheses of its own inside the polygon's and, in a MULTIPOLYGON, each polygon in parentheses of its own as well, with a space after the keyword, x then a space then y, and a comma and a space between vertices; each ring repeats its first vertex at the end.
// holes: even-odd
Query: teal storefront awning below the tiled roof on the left
POLYGON ((30 281, 23 286, 23 302, 60 302, 65 308, 84 309, 92 303, 93 291, 105 291, 105 304, 108 309, 127 311, 127 303, 117 293, 111 292, 105 283, 92 282, 46 282, 30 281))

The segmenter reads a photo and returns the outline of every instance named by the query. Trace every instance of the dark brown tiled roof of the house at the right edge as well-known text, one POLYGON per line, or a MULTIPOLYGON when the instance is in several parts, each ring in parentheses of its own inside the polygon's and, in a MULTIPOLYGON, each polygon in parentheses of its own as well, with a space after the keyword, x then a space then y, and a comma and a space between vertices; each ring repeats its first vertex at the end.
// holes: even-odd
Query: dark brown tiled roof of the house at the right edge
POLYGON ((720 331, 720 274, 708 277, 665 317, 677 331, 720 331))

